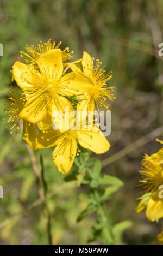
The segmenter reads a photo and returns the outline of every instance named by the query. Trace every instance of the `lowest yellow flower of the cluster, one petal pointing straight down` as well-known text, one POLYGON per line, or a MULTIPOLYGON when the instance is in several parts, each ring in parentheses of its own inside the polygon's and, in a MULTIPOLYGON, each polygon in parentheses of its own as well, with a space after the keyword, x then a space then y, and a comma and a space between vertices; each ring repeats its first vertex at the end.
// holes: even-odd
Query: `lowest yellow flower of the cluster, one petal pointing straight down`
POLYGON ((48 131, 40 131, 39 143, 42 147, 56 146, 52 159, 58 170, 62 174, 67 174, 70 171, 73 164, 73 160, 78 155, 80 150, 77 146, 77 142, 83 148, 87 148, 96 154, 105 153, 109 150, 110 144, 101 130, 93 127, 89 129, 72 129, 66 130, 64 133, 58 134, 58 131, 53 128, 48 131))

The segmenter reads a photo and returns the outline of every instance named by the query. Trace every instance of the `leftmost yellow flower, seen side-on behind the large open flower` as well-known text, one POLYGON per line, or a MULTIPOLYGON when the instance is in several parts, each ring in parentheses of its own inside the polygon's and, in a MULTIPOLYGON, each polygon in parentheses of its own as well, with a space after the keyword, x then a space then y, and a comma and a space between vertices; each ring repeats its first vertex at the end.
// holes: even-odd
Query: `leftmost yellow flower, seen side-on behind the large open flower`
POLYGON ((6 128, 11 126, 10 133, 12 134, 12 129, 17 127, 17 130, 19 130, 20 127, 23 126, 22 138, 33 150, 36 150, 39 148, 39 144, 37 143, 37 130, 35 124, 24 121, 19 117, 24 104, 23 96, 16 90, 16 88, 11 86, 5 99, 4 112, 7 116, 4 119, 8 119, 6 128))

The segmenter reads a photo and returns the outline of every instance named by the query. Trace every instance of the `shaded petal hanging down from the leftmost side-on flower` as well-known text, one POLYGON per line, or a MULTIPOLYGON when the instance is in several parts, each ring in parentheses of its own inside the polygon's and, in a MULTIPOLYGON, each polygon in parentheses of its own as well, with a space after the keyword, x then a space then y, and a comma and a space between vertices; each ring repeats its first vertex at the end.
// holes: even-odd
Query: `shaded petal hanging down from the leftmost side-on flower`
POLYGON ((22 138, 32 150, 37 150, 39 148, 39 145, 37 144, 37 130, 35 124, 27 121, 23 122, 22 138))

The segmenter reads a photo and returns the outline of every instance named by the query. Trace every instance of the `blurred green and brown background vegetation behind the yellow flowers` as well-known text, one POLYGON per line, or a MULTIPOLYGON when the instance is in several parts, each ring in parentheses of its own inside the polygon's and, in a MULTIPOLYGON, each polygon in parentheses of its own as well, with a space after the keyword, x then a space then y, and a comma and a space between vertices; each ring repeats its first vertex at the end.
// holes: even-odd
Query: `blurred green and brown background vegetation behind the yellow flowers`
MULTIPOLYGON (((4 56, 0 57, 0 184, 4 187, 4 199, 0 199, 0 244, 48 244, 41 205, 29 207, 39 198, 29 153, 21 132, 11 135, 5 128, 3 98, 19 51, 26 44, 52 39, 57 43, 61 40, 62 49, 68 46, 74 50, 74 59, 82 57, 85 50, 99 58, 108 72, 112 70, 109 86, 116 86, 116 100, 110 106, 111 149, 98 158, 109 159, 103 172, 121 178, 124 187, 112 196, 109 207, 112 206, 116 222, 130 219, 134 223, 124 234, 124 243, 154 245, 163 222, 151 223, 144 213, 135 213, 136 198, 141 192, 135 185, 139 183, 143 154, 155 153, 160 145, 151 138, 146 144, 138 143, 131 152, 124 149, 123 157, 110 157, 163 123, 163 67, 158 56, 158 45, 163 42, 162 0, 1 0, 0 4, 0 43, 4 47, 4 56)), ((65 176, 52 163, 52 150, 41 153, 48 189, 54 191, 49 200, 53 244, 85 245, 96 218, 90 216, 76 223, 85 207, 78 195, 85 192, 86 186, 76 188, 65 183, 65 176)), ((35 155, 39 163, 40 151, 35 155)))

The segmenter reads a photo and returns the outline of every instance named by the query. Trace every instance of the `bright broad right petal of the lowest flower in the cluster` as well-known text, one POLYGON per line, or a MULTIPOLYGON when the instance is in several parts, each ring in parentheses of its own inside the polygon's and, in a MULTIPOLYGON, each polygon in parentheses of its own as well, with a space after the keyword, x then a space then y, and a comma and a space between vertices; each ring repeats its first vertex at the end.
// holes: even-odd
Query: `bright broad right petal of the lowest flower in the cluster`
POLYGON ((88 148, 96 154, 105 153, 110 148, 110 144, 101 130, 79 130, 78 141, 82 147, 88 148))

